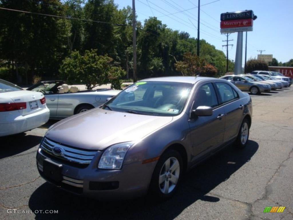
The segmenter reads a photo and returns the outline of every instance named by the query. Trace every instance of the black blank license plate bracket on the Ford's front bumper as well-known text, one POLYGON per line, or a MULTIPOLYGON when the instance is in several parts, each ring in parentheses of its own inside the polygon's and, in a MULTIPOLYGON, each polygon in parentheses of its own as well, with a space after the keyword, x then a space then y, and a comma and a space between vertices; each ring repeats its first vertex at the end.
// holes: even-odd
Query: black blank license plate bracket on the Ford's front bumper
POLYGON ((62 164, 53 162, 52 160, 45 159, 43 162, 43 173, 45 177, 56 182, 61 182, 62 177, 62 164))

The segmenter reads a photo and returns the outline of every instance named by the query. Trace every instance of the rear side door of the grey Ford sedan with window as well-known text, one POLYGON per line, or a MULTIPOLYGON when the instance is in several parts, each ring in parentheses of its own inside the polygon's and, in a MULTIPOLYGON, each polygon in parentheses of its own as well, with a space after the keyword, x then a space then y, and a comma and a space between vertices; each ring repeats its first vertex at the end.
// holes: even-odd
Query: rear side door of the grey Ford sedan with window
POLYGON ((244 111, 244 101, 229 84, 216 82, 216 89, 219 93, 220 104, 225 111, 224 142, 237 136, 244 111))

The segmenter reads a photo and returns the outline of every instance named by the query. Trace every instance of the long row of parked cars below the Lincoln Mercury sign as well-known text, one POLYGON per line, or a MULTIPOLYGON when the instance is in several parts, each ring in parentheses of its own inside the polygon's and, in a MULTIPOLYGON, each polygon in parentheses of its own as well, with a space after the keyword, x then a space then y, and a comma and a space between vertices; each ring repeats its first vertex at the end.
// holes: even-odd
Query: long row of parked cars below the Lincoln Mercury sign
MULTIPOLYGON (((262 71, 264 72, 264 71, 262 71)), ((262 73, 258 72, 258 73, 262 73)), ((241 75, 225 75, 220 77, 233 83, 243 92, 251 94, 260 94, 269 92, 270 90, 281 89, 291 86, 290 80, 282 80, 289 77, 273 78, 270 75, 262 74, 241 74, 241 75)))

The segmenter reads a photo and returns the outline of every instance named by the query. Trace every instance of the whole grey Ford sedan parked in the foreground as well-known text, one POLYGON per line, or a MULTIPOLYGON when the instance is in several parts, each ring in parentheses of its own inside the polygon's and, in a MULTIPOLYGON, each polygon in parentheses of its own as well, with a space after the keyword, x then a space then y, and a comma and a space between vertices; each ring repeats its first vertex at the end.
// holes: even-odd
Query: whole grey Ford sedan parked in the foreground
POLYGON ((55 123, 37 152, 40 175, 75 194, 171 197, 186 171, 248 142, 252 102, 224 79, 139 81, 100 108, 55 123))

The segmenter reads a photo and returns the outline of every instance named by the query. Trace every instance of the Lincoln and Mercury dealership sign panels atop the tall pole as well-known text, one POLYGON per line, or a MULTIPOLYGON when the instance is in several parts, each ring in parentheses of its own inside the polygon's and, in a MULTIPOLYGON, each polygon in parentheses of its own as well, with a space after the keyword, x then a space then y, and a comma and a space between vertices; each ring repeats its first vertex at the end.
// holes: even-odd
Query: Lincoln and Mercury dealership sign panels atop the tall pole
POLYGON ((221 33, 252 31, 256 16, 252 10, 227 12, 221 14, 221 33))

